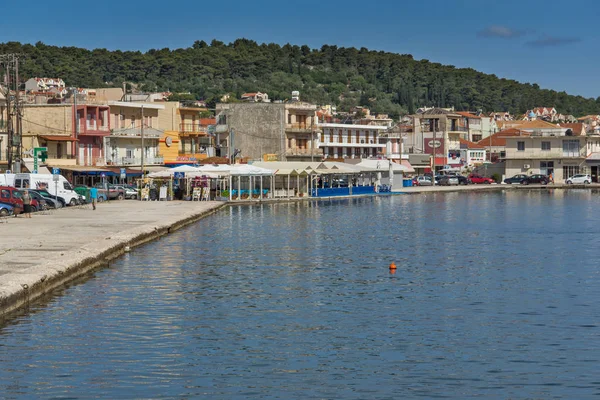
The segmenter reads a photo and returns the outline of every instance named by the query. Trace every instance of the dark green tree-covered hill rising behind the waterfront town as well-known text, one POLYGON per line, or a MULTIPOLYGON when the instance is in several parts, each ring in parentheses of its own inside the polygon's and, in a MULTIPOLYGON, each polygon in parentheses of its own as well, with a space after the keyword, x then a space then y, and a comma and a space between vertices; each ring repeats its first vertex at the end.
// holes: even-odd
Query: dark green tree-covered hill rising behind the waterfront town
POLYGON ((23 78, 60 77, 79 87, 134 82, 149 91, 191 92, 209 103, 228 92, 239 98, 247 91, 261 91, 284 100, 299 90, 302 100, 337 104, 341 110, 368 106, 394 117, 420 106, 515 114, 554 106, 563 114, 600 114, 600 97, 570 96, 473 69, 365 48, 310 49, 238 39, 229 44, 196 41, 186 49, 142 53, 9 42, 0 44, 2 53, 26 55, 20 70, 23 78))

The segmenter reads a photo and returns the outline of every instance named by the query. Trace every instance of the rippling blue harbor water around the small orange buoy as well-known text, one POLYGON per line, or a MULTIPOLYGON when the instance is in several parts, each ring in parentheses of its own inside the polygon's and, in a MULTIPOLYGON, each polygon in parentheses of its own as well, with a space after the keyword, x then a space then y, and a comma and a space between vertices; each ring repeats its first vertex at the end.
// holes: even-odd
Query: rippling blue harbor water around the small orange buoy
POLYGON ((4 321, 0 398, 598 396, 598 210, 595 190, 232 206, 4 321))

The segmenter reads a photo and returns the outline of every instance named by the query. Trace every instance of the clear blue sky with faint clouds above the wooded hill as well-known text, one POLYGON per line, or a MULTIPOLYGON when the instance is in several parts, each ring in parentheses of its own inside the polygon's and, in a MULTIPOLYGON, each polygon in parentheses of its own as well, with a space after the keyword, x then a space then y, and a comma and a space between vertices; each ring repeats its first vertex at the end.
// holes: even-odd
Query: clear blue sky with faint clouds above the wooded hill
POLYGON ((3 4, 0 42, 142 50, 245 37, 412 54, 600 96, 597 0, 29 0, 3 4))

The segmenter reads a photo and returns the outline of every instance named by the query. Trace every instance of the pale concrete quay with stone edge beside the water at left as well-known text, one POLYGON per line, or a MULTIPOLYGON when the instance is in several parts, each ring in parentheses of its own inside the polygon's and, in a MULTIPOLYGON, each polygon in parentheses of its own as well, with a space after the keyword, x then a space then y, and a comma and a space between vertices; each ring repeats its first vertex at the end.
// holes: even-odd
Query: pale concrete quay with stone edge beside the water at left
POLYGON ((0 316, 224 205, 126 200, 0 221, 0 316))

